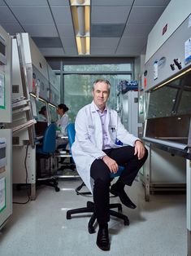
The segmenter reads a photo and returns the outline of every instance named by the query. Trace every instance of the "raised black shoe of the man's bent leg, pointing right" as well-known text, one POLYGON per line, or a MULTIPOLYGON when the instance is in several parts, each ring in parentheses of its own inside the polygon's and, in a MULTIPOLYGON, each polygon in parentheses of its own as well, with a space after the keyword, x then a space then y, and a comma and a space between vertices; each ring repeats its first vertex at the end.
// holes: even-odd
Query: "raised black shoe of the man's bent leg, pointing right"
POLYGON ((119 196, 120 201, 127 206, 128 208, 135 209, 137 206, 133 204, 131 199, 128 197, 128 195, 124 192, 124 188, 117 188, 115 184, 111 186, 110 190, 111 194, 114 196, 119 196))

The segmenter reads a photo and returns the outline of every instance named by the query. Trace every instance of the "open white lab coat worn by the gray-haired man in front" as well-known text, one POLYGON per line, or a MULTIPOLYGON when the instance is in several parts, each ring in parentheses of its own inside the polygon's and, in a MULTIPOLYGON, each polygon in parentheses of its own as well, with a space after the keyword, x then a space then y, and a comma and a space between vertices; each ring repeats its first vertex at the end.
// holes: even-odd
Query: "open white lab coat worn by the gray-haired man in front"
MULTIPOLYGON (((122 146, 115 144, 119 139, 124 145, 134 146, 138 139, 128 133, 122 125, 115 110, 107 108, 106 133, 110 139, 111 148, 122 146)), ((93 192, 93 179, 90 179, 90 166, 95 159, 106 155, 102 151, 102 123, 94 103, 81 108, 76 116, 76 137, 72 144, 72 157, 76 163, 76 169, 86 186, 93 192)))

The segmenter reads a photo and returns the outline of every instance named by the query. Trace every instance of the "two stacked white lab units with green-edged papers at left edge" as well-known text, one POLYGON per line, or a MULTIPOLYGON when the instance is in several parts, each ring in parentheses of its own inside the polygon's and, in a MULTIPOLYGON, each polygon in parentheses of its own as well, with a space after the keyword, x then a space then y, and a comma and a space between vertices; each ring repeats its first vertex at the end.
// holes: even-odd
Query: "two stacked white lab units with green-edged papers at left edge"
POLYGON ((0 229, 12 214, 11 37, 0 26, 0 229))

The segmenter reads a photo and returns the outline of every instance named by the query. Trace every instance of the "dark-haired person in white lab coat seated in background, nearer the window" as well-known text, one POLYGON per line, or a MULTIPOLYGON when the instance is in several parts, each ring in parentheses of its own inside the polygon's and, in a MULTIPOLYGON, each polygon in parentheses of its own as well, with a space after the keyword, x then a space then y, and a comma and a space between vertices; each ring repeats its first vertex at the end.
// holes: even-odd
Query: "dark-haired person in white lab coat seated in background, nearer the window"
MULTIPOLYGON (((56 122, 56 125, 58 127, 58 130, 63 136, 67 136, 67 124, 69 122, 69 117, 67 116, 67 111, 69 108, 65 104, 59 104, 57 108, 57 113, 59 114, 59 120, 56 122)), ((59 147, 59 145, 67 146, 68 139, 63 138, 57 138, 56 139, 56 148, 59 147)))

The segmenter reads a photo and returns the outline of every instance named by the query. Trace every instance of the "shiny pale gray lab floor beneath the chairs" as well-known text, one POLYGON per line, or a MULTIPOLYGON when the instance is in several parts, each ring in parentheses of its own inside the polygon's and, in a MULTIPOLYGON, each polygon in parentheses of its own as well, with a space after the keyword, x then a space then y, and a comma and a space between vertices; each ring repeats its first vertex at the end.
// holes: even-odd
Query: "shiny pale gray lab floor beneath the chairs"
MULTIPOLYGON (((89 234, 89 217, 66 219, 66 210, 85 205, 85 196, 76 196, 80 180, 59 181, 60 192, 41 187, 37 200, 13 205, 13 214, 0 233, 2 256, 181 256, 186 255, 184 194, 154 194, 144 200, 141 182, 127 187, 137 204, 136 210, 124 206, 130 225, 112 218, 109 223, 111 250, 98 249, 97 234, 89 234)), ((24 191, 14 191, 14 201, 24 201, 24 191)), ((111 201, 117 202, 118 198, 111 201)))

